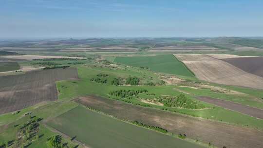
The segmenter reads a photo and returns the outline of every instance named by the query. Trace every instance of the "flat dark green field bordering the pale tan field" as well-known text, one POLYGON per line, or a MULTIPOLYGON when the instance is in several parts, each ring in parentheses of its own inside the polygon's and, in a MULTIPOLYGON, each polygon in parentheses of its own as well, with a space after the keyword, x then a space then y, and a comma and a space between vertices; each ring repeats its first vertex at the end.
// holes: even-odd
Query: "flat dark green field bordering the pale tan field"
POLYGON ((188 68, 180 61, 178 61, 173 55, 158 55, 158 56, 133 56, 133 57, 121 57, 118 56, 114 59, 114 62, 122 63, 134 67, 148 67, 152 71, 177 74, 183 76, 192 76, 188 68))

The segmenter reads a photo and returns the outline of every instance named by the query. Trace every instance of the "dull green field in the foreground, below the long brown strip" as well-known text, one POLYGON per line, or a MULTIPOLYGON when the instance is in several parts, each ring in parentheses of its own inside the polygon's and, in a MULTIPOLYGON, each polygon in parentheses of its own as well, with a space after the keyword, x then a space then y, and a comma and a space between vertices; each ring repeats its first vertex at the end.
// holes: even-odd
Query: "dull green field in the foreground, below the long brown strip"
POLYGON ((48 125, 91 148, 203 148, 78 106, 48 125), (76 116, 77 115, 77 116, 76 116), (107 125, 107 126, 106 126, 107 125))

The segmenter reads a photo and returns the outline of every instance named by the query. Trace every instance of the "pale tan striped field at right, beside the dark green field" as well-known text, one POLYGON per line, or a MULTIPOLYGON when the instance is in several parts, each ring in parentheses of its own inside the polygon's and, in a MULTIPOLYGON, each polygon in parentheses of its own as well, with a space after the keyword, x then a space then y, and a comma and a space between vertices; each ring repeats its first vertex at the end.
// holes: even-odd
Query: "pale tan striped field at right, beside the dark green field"
POLYGON ((198 54, 177 54, 174 56, 184 62, 200 80, 218 84, 263 89, 263 77, 247 73, 223 60, 198 54))

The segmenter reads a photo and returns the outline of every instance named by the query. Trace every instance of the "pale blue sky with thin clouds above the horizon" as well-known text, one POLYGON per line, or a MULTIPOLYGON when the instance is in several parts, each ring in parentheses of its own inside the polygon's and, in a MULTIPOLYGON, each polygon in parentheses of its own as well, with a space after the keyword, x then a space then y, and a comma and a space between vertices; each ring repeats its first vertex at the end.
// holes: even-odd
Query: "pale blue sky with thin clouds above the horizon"
POLYGON ((0 0, 0 38, 262 37, 263 0, 0 0))

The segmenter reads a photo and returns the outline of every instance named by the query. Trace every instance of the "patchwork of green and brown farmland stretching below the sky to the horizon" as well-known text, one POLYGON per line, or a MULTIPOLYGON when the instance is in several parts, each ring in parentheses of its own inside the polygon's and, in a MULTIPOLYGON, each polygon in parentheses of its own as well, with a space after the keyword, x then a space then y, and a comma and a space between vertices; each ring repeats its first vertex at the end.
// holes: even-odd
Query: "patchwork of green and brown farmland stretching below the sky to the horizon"
POLYGON ((20 66, 0 76, 0 143, 48 148, 58 136, 63 148, 262 148, 262 50, 238 39, 0 42, 16 51, 0 60, 20 66))

